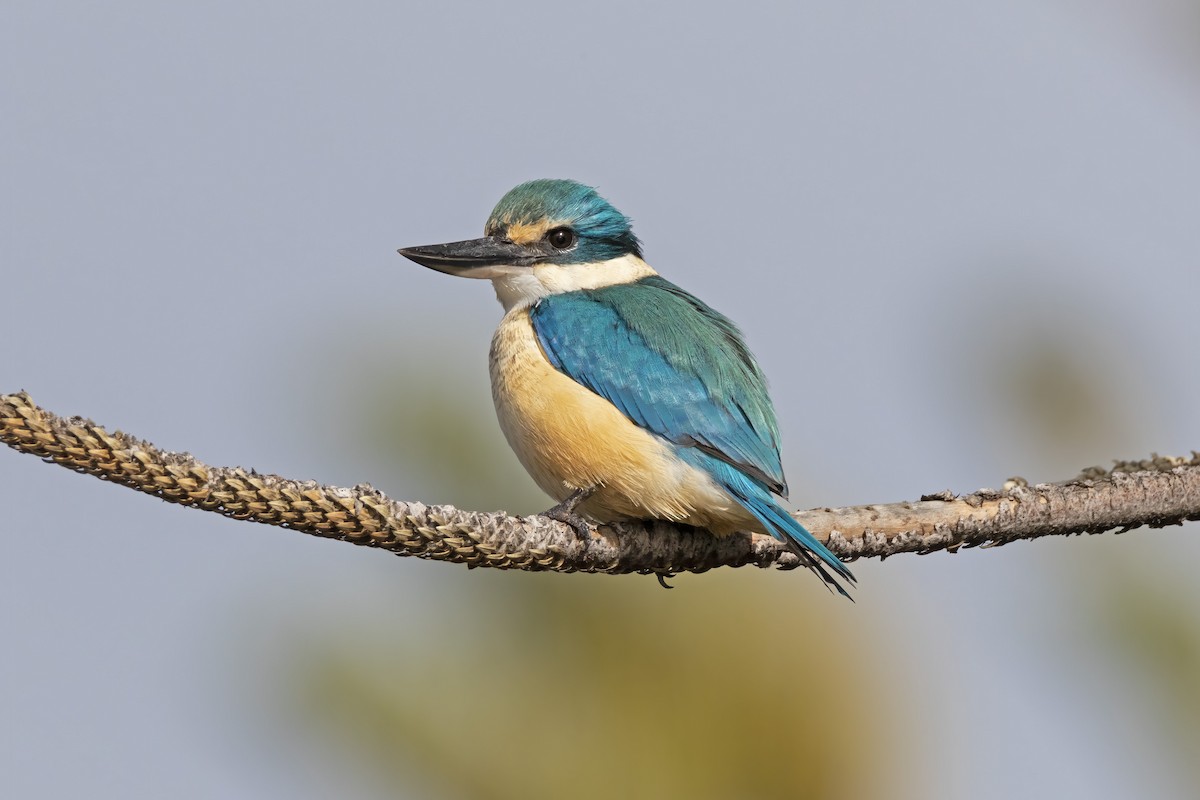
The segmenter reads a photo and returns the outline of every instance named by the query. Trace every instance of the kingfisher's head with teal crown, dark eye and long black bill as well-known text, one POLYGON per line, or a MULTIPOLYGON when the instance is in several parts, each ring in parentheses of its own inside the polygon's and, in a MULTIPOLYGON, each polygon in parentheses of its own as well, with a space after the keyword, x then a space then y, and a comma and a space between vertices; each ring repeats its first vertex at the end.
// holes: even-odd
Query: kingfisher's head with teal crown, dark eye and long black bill
POLYGON ((629 218, 594 188, 542 179, 500 198, 482 239, 406 247, 400 254, 449 275, 499 281, 541 265, 596 265, 624 257, 640 263, 642 248, 629 218))

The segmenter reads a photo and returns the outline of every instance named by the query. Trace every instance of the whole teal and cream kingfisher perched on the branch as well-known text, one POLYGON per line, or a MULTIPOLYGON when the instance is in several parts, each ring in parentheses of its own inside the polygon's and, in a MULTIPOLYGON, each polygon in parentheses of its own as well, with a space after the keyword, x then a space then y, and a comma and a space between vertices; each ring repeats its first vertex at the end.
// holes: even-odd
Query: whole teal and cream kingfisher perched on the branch
POLYGON ((767 381, 727 317, 642 259, 629 217, 595 188, 534 180, 500 198, 482 239, 406 247, 439 272, 492 282, 492 399, 546 516, 664 519, 755 531, 827 585, 850 572, 775 499, 787 497, 767 381))

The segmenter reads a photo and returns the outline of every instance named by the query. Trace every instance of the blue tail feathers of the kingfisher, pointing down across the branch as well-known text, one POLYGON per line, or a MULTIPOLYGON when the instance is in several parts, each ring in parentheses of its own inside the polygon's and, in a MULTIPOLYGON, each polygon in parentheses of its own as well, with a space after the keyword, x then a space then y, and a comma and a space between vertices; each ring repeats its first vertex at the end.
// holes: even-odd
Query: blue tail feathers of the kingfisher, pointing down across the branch
POLYGON ((838 583, 838 578, 829 573, 829 570, 833 570, 833 572, 851 584, 856 583, 854 575, 836 555, 817 541, 816 536, 809 533, 804 525, 796 522, 792 515, 780 507, 762 485, 732 464, 718 461, 692 449, 680 450, 679 455, 685 461, 708 473, 713 480, 733 495, 733 499, 742 507, 752 513, 772 536, 785 545, 790 545, 792 551, 804 561, 804 566, 820 576, 826 582, 826 585, 836 589, 838 594, 853 602, 853 597, 838 583), (829 570, 826 567, 829 567, 829 570))

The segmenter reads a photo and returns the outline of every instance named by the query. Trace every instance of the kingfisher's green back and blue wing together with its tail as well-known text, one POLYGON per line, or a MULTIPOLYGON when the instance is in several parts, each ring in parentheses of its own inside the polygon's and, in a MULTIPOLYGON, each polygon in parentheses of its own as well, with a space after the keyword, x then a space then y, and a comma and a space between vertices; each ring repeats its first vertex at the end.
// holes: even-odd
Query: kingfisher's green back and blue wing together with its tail
MULTIPOLYGON (((779 429, 762 372, 728 318, 668 281, 551 295, 529 311, 551 365, 678 446, 767 530, 846 566, 781 509, 779 429)), ((814 567, 845 594, 821 565, 814 567)))

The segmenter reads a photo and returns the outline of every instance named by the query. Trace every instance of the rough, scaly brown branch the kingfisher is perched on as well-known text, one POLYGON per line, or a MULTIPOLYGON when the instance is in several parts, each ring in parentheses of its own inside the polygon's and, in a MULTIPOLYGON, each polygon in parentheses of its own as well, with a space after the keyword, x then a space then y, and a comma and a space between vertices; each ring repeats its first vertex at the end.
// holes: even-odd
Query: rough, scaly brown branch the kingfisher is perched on
MULTIPOLYGON (((668 523, 629 523, 600 527, 584 540, 570 527, 540 516, 427 506, 392 500, 367 485, 340 488, 240 467, 209 467, 187 453, 164 452, 126 433, 110 433, 90 420, 56 416, 24 392, 0 395, 0 440, 168 503, 398 555, 559 572, 661 575, 718 566, 802 566, 769 536, 718 539, 668 523)), ((796 517, 842 559, 1162 528, 1200 519, 1200 453, 1118 462, 1061 483, 1028 486, 1010 479, 1000 491, 959 497, 942 492, 912 503, 812 509, 796 517)))

